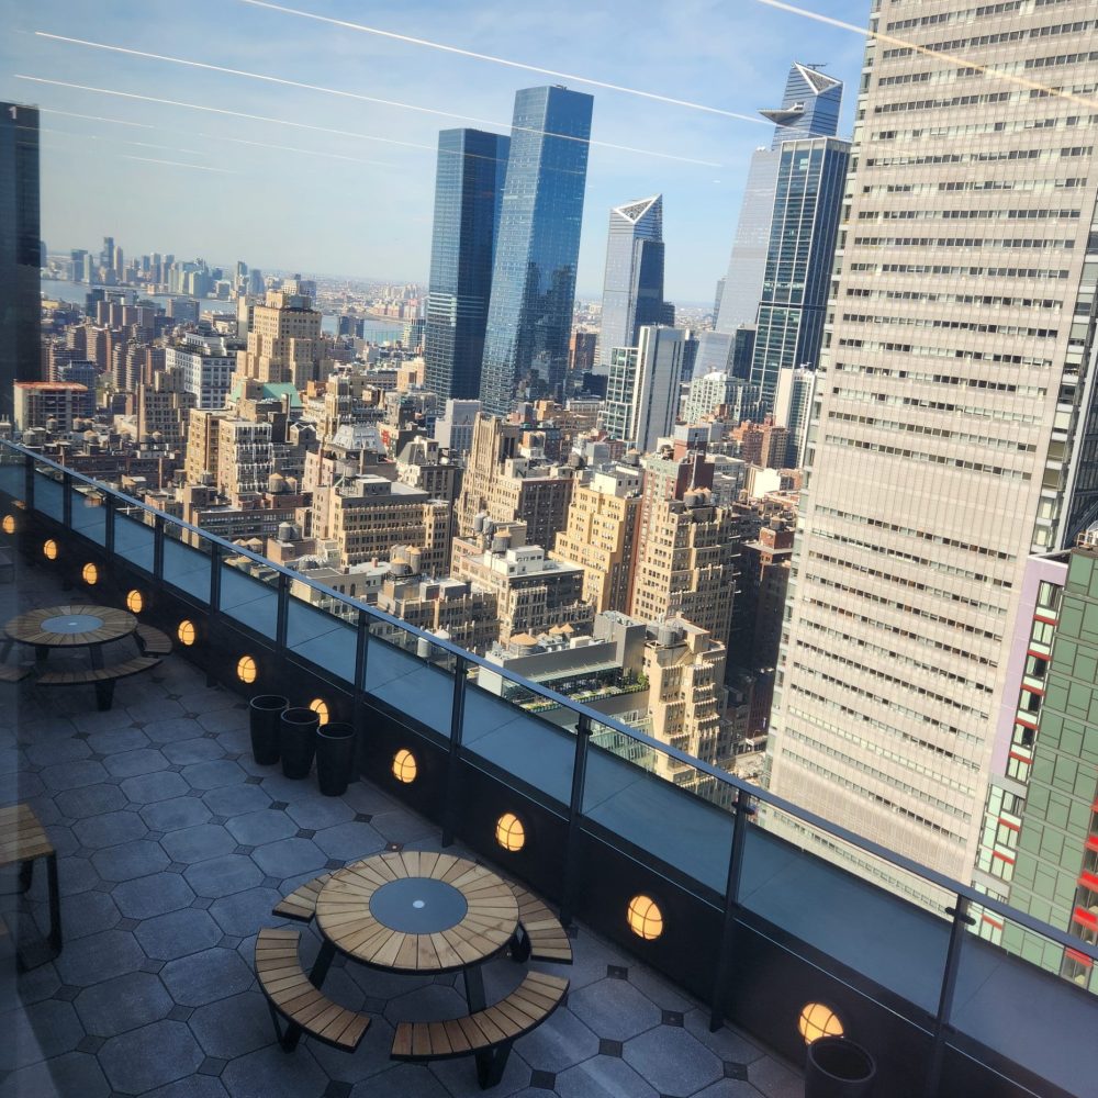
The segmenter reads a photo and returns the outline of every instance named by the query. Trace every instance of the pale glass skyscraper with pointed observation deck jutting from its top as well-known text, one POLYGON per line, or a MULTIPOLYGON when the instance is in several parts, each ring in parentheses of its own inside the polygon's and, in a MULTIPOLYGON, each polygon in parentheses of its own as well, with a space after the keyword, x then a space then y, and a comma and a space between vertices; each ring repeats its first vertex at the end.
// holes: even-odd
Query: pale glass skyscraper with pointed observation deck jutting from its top
POLYGON ((841 80, 794 61, 782 105, 760 111, 774 123, 774 135, 770 148, 758 148, 751 156, 715 325, 718 332, 732 333, 740 324, 754 324, 771 247, 782 146, 788 141, 833 137, 841 102, 841 80))

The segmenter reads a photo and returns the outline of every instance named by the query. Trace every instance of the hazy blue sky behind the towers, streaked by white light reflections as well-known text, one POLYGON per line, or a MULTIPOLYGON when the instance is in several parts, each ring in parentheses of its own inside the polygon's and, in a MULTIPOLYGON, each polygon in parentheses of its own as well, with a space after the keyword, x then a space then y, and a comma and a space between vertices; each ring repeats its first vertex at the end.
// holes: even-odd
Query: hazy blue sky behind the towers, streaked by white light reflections
MULTIPOLYGON (((777 105, 793 59, 826 61, 847 82, 841 135, 849 135, 863 47, 858 34, 759 0, 281 2, 743 114, 777 105)), ((869 10, 867 0, 805 7, 858 26, 869 10)), ((51 248, 98 248, 111 234, 127 255, 155 249, 265 269, 426 279, 437 134, 475 123, 93 49, 40 31, 453 112, 500 132, 518 88, 567 82, 592 92, 593 141, 647 153, 592 146, 578 278, 584 295, 602 289, 609 209, 662 192, 668 295, 710 300, 728 261, 748 158, 770 139, 770 130, 752 122, 242 0, 0 0, 0 10, 15 31, 0 41, 0 98, 68 112, 42 116, 42 225, 51 248)))

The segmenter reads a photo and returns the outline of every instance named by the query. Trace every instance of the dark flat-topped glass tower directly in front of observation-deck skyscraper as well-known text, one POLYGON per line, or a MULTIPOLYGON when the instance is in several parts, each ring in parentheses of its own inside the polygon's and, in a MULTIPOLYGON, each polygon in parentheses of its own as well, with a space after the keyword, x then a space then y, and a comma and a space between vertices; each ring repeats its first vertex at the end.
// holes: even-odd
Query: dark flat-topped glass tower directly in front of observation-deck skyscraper
POLYGON ((749 376, 766 411, 778 370, 819 358, 849 159, 850 143, 836 137, 781 147, 749 376))

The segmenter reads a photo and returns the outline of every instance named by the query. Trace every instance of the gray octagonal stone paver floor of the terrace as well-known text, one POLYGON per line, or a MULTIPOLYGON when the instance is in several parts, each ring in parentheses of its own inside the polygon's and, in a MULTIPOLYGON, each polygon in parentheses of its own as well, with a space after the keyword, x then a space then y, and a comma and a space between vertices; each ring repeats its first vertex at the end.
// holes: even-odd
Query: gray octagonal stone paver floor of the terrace
MULTIPOLYGON (((0 594, 15 613, 16 587, 0 594)), ((64 602, 20 567, 19 609, 64 602)), ((29 802, 59 852, 64 952, 15 975, 0 971, 0 1026, 10 1034, 0 1093, 20 1098, 223 1098, 285 1095, 447 1098, 482 1091, 468 1060, 394 1064, 391 1019, 460 1012, 452 977, 389 977, 337 962, 325 989, 373 1022, 354 1055, 302 1042, 277 1046, 251 968, 271 906, 310 876, 437 830, 380 789, 321 796, 251 761, 240 699, 178 656, 119 684, 98 713, 90 690, 9 690, 0 703, 0 804, 29 802), (85 696, 85 695, 88 696, 85 696)), ((44 929, 44 873, 27 897, 14 874, 0 909, 16 937, 44 929)), ((294 925, 300 926, 300 925, 294 925)), ((317 949, 303 928, 303 954, 317 949)), ((9 940, 10 943, 10 940, 9 940)), ((492 1091, 561 1098, 800 1098, 789 1065, 580 926, 567 1005, 520 1040, 492 1091)), ((493 962, 490 990, 517 983, 493 962)))

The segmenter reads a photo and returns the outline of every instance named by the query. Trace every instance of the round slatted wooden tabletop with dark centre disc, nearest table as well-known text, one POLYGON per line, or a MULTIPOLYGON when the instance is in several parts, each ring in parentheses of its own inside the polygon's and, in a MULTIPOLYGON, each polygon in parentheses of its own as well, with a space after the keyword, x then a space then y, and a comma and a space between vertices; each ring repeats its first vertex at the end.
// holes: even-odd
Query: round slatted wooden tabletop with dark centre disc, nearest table
POLYGON ((498 953, 518 901, 491 870, 452 854, 378 854, 337 870, 316 925, 340 952, 392 972, 451 972, 498 953))

